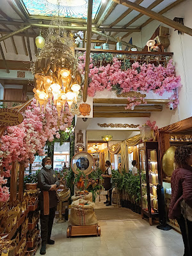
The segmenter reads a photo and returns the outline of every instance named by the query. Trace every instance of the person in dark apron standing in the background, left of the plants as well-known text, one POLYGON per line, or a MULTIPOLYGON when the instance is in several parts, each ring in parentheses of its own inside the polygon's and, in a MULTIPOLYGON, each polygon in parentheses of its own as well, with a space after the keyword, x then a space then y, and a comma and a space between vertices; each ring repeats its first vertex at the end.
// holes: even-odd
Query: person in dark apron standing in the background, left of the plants
POLYGON ((106 172, 102 174, 102 177, 104 178, 104 189, 108 190, 108 195, 106 195, 106 206, 111 205, 112 202, 112 186, 111 186, 111 178, 112 178, 112 171, 111 171, 111 163, 109 161, 106 161, 106 172), (109 197, 109 200, 108 200, 109 197))

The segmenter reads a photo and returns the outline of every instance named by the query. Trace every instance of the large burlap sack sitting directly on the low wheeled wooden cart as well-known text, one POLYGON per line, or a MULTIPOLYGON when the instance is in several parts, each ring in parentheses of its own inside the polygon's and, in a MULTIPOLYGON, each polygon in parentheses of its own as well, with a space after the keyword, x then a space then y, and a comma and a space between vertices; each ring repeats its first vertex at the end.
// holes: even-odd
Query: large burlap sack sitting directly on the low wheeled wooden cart
POLYGON ((69 219, 70 224, 74 226, 96 225, 98 222, 94 207, 94 203, 83 199, 72 202, 69 219))

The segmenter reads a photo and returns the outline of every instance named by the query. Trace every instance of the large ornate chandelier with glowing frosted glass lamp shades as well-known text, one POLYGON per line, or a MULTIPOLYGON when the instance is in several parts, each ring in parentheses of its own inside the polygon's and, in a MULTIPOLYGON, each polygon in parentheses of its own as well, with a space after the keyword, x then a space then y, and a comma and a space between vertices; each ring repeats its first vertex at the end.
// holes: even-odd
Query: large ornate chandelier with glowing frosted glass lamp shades
POLYGON ((61 19, 52 19, 45 38, 45 45, 36 55, 31 70, 35 76, 35 99, 40 107, 51 102, 56 106, 58 116, 65 104, 69 109, 77 103, 81 89, 81 74, 77 70, 77 56, 74 38, 61 28, 61 19))

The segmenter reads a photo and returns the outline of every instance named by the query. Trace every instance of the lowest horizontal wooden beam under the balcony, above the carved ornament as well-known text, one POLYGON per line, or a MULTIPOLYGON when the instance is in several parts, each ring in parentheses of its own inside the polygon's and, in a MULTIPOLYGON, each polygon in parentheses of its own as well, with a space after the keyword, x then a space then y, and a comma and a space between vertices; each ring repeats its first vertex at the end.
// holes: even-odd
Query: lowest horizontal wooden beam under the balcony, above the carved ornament
POLYGON ((94 117, 104 117, 104 118, 113 118, 113 117, 150 117, 150 113, 100 113, 100 112, 93 112, 93 118, 94 117))

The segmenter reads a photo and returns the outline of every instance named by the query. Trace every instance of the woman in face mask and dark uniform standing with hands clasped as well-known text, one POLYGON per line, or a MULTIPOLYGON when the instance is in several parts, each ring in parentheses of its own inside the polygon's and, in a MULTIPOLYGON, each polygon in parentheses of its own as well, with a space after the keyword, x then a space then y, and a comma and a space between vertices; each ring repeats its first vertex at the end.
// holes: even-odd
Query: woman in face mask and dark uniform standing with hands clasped
POLYGON ((54 170, 52 170, 51 157, 42 160, 42 170, 38 172, 38 188, 40 188, 40 224, 42 248, 40 254, 46 253, 46 244, 54 244, 51 240, 52 224, 54 221, 58 197, 56 190, 60 186, 60 181, 54 170))

